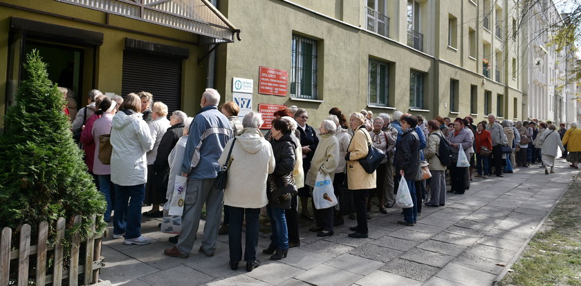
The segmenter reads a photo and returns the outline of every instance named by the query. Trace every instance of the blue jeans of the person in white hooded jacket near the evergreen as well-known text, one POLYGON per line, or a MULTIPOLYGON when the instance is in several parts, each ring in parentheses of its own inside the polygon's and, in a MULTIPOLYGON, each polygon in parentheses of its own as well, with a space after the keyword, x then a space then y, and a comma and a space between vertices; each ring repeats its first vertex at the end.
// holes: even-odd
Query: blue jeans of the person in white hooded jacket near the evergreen
POLYGON ((113 187, 116 196, 113 234, 125 233, 126 239, 138 238, 141 236, 141 204, 145 198, 145 184, 113 184, 113 187))

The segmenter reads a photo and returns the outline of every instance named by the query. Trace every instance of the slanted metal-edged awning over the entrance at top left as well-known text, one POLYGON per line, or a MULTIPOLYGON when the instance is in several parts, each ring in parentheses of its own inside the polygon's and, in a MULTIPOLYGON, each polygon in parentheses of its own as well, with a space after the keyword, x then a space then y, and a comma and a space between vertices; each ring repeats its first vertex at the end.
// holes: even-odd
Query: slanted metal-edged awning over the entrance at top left
POLYGON ((208 0, 55 0, 231 43, 238 30, 208 0))

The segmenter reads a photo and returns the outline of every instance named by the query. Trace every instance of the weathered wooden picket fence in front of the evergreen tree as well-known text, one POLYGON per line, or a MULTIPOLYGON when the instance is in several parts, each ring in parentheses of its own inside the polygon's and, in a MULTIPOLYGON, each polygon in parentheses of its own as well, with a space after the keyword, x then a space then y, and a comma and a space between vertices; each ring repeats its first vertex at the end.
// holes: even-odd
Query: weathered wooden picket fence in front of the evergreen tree
MULTIPOLYGON (((90 218, 91 231, 95 231, 95 215, 90 218)), ((75 216, 73 225, 79 225, 81 216, 75 216)), ((68 269, 63 270, 64 248, 62 239, 64 238, 64 230, 66 227, 66 220, 59 218, 56 227, 56 241, 54 247, 48 247, 48 222, 44 221, 38 227, 37 245, 30 245, 30 225, 22 225, 20 230, 20 240, 18 249, 10 250, 12 244, 12 229, 5 227, 2 229, 0 236, 0 285, 10 285, 15 280, 14 274, 10 278, 10 261, 18 260, 18 271, 16 283, 14 285, 24 286, 29 284, 29 264, 36 263, 35 285, 44 286, 51 284, 53 286, 62 285, 68 279, 68 285, 79 285, 80 278, 84 278, 81 282, 85 285, 97 283, 99 280, 99 269, 104 265, 101 256, 101 242, 102 235, 94 236, 86 241, 81 242, 78 235, 73 236, 72 246, 70 250, 70 263, 68 269), (84 265, 79 267, 80 247, 86 245, 84 251, 85 255, 82 257, 84 265), (50 253, 50 251, 53 251, 50 253), (47 257, 48 254, 53 254, 53 267, 47 274, 47 257), (30 256, 36 255, 36 261, 30 261, 30 256), (83 274, 83 276, 80 276, 83 274)), ((32 283, 32 281, 30 281, 32 283)))

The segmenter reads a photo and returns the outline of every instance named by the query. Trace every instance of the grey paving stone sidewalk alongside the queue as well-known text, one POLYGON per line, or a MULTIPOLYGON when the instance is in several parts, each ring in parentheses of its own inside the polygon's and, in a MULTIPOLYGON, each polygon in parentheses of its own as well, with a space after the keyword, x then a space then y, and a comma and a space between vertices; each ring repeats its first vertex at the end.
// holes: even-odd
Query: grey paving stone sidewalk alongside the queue
MULTIPOLYGON (((261 253, 270 240, 261 233, 261 266, 246 272, 228 266, 228 236, 219 236, 214 257, 198 254, 169 258, 163 249, 171 235, 160 233, 156 219, 144 220, 150 245, 104 240, 105 267, 100 278, 112 285, 492 285, 504 266, 520 254, 578 170, 557 159, 555 174, 533 165, 515 168, 505 178, 474 178, 464 195, 448 194, 445 207, 423 207, 414 227, 403 227, 401 209, 371 211, 369 238, 348 238, 355 220, 319 238, 301 229, 301 247, 288 257, 268 260, 261 253)), ((144 209, 145 210, 145 209, 144 209)), ((203 222, 202 222, 203 223, 203 222)), ((110 226, 111 227, 111 226, 110 226)), ((203 229, 203 225, 199 228, 203 229)), ((112 230, 109 231, 112 233, 112 230)))

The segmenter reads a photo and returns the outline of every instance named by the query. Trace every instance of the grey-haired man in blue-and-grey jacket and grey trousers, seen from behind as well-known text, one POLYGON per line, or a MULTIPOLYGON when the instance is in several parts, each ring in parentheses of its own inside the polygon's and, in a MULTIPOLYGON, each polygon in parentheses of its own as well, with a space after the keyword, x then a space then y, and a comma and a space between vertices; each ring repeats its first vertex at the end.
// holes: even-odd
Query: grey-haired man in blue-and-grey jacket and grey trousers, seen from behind
POLYGON ((167 256, 179 258, 190 256, 196 242, 204 204, 206 222, 200 252, 206 256, 214 256, 224 197, 223 189, 214 189, 214 180, 220 169, 218 159, 226 142, 232 137, 228 118, 218 110, 219 102, 218 91, 206 88, 201 100, 202 109, 190 125, 181 167, 182 175, 187 177, 183 227, 176 246, 163 252, 167 256))

